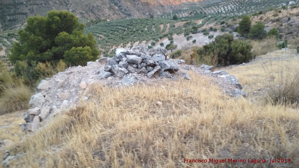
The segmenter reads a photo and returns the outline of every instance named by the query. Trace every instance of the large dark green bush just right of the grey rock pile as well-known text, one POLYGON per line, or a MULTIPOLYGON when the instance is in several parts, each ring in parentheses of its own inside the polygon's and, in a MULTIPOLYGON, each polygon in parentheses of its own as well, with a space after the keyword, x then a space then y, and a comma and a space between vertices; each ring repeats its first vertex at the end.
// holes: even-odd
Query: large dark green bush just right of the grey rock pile
POLYGON ((240 39, 234 40, 233 35, 225 33, 216 36, 215 42, 210 42, 202 48, 196 49, 193 58, 203 61, 208 57, 210 65, 231 65, 248 62, 253 58, 251 53, 252 45, 240 39))

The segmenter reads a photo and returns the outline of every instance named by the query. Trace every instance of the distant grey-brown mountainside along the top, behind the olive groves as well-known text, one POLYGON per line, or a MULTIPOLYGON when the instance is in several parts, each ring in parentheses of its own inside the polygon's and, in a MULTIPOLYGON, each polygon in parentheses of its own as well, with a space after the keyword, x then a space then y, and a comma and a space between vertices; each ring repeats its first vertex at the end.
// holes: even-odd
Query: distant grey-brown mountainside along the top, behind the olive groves
POLYGON ((121 19, 158 17, 181 8, 180 3, 204 5, 220 0, 1 0, 0 30, 21 27, 28 16, 46 16, 50 10, 68 10, 80 19, 121 19))

